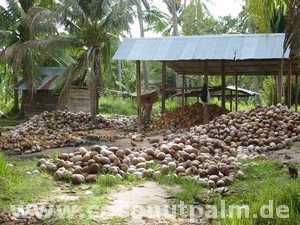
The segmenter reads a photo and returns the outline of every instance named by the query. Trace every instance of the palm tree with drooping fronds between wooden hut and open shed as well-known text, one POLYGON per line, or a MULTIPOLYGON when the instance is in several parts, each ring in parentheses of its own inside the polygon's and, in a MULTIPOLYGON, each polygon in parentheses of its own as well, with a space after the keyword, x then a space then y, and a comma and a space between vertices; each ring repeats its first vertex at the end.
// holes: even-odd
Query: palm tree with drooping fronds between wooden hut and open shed
POLYGON ((63 0, 57 3, 63 25, 69 32, 69 44, 77 49, 75 62, 68 68, 60 94, 58 109, 65 107, 72 81, 80 73, 86 77, 91 98, 91 117, 97 123, 98 88, 103 88, 103 67, 110 59, 110 43, 118 39, 133 22, 132 1, 126 0, 63 0))

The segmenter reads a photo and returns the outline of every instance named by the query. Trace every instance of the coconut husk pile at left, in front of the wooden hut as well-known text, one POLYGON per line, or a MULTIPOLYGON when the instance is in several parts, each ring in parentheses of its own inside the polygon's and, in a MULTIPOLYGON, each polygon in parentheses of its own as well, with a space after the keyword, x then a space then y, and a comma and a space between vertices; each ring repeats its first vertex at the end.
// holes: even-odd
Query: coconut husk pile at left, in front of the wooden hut
POLYGON ((97 116, 97 126, 92 123, 90 113, 53 111, 43 112, 26 123, 11 130, 8 138, 3 139, 2 150, 10 154, 28 154, 44 149, 63 146, 78 146, 84 143, 87 131, 91 129, 135 129, 129 119, 109 119, 97 116))

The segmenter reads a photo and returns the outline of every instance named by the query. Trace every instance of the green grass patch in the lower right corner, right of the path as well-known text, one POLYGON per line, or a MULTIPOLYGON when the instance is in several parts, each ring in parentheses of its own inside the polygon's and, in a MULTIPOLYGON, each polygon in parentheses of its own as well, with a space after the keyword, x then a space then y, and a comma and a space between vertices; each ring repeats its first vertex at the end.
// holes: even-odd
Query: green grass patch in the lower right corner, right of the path
POLYGON ((226 218, 216 224, 299 224, 299 178, 291 179, 281 163, 270 161, 244 163, 243 171, 245 176, 230 186, 232 194, 213 200, 218 209, 220 200, 225 200, 228 210, 226 218), (238 210, 230 215, 229 206, 238 206, 238 210), (246 211, 240 211, 240 206, 246 211))

